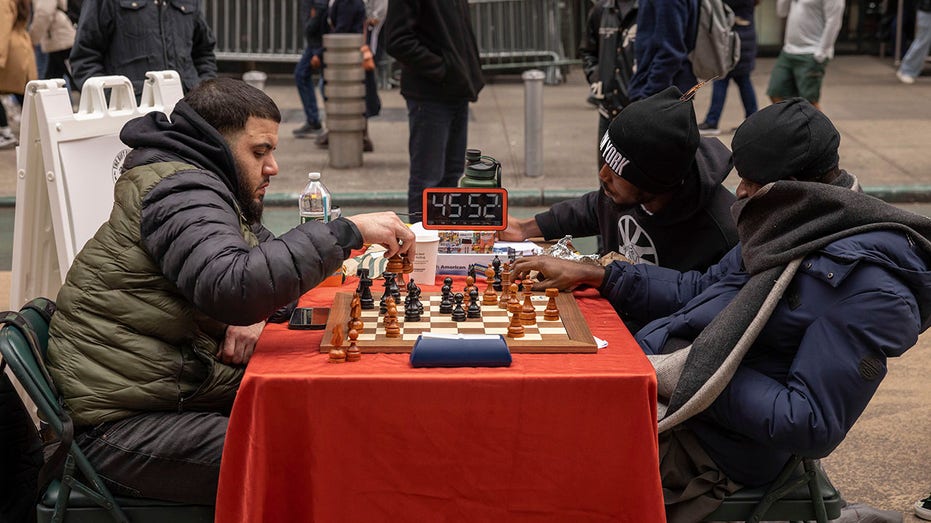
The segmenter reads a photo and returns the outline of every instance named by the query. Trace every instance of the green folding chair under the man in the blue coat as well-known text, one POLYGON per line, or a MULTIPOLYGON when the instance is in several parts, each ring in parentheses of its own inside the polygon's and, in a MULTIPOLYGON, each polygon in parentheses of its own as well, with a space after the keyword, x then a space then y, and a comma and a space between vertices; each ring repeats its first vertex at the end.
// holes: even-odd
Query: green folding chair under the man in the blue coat
POLYGON ((762 487, 743 488, 724 498, 704 521, 810 521, 840 516, 840 492, 812 458, 792 456, 779 476, 762 487))

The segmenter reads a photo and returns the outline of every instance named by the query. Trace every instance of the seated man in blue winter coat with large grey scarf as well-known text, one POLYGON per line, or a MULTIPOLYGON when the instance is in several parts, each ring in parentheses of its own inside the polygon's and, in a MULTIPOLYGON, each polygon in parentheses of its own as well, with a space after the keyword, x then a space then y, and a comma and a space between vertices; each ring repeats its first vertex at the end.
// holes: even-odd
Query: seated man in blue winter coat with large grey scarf
POLYGON ((718 264, 578 269, 617 310, 650 321, 635 337, 657 369, 671 522, 772 481, 792 454, 830 454, 886 359, 931 322, 931 220, 860 192, 838 169, 839 143, 805 100, 769 106, 734 136, 740 243, 718 264))

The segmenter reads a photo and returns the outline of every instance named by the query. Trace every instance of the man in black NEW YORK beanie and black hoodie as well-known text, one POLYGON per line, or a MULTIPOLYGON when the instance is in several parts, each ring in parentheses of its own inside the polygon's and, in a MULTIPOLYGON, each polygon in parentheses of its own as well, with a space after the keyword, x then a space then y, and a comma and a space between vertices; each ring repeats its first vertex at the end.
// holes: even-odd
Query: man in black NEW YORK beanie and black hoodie
MULTIPOLYGON (((509 217, 500 237, 599 235, 602 255, 616 251, 636 263, 683 271, 720 259, 737 241, 729 211, 734 195, 721 186, 730 153, 717 138, 699 136, 692 100, 682 98, 670 87, 621 110, 600 137, 601 188, 533 218, 509 217)), ((550 279, 541 286, 582 283, 571 270, 543 272, 550 279)))

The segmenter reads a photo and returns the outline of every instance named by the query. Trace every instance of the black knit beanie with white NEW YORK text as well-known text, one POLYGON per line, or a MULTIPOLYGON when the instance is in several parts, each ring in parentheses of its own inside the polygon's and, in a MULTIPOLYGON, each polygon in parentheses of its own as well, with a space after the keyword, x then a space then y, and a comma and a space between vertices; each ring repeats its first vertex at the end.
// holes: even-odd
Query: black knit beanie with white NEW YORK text
POLYGON ((662 194, 685 179, 700 140, 691 97, 676 87, 625 107, 611 121, 599 149, 614 174, 638 189, 662 194))

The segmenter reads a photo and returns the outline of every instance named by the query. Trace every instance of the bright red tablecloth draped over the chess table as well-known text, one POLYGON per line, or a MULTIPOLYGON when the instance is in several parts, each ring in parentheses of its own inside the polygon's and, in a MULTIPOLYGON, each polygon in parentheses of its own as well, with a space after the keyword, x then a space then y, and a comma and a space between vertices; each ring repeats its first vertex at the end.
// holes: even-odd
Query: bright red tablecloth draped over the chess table
POLYGON ((664 521, 653 369, 605 300, 576 298, 607 348, 505 368, 330 364, 323 331, 269 325, 230 417, 216 521, 664 521))

